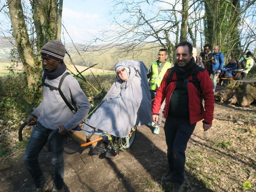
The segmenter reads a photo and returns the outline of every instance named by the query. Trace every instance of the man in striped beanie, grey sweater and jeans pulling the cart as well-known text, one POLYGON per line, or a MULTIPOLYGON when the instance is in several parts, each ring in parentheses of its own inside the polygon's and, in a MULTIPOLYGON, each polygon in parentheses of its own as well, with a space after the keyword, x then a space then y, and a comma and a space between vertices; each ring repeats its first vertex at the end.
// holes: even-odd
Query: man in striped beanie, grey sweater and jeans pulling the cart
POLYGON ((43 100, 27 119, 27 124, 35 125, 35 127, 28 141, 23 160, 34 180, 37 192, 49 189, 38 163, 38 154, 46 144, 50 133, 57 128, 59 129, 58 134, 52 138, 51 164, 54 172, 52 191, 64 191, 65 134, 80 124, 90 110, 90 103, 73 76, 67 75, 64 78, 61 90, 70 104, 71 100, 74 100, 72 102, 74 108, 76 105, 79 106, 75 114, 64 102, 58 89, 51 89, 58 88, 60 79, 67 72, 63 62, 65 52, 65 47, 60 40, 52 40, 43 46, 41 50, 44 67, 42 76, 46 77, 43 84, 43 100))

